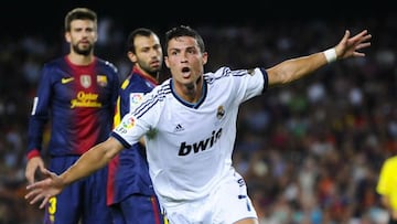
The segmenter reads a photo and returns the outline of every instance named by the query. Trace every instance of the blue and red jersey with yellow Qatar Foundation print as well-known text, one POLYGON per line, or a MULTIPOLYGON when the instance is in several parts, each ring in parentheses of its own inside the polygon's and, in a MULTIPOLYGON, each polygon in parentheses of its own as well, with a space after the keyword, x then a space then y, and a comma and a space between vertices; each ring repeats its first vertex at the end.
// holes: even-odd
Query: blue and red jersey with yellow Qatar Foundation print
POLYGON ((41 75, 29 120, 28 157, 43 148, 53 157, 83 154, 109 137, 120 84, 114 64, 95 57, 81 66, 64 56, 46 63, 41 75))

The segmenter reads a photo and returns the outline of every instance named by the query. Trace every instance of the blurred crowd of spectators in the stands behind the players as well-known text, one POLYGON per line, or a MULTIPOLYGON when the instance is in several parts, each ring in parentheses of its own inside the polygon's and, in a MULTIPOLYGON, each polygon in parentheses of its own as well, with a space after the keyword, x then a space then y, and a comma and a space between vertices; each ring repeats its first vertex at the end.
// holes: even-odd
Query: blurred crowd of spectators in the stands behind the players
MULTIPOLYGON (((193 28, 206 43, 207 71, 270 67, 336 44, 345 29, 369 30, 366 57, 330 64, 243 105, 234 164, 260 224, 387 223, 375 185, 382 162, 397 152, 397 17, 193 28)), ((43 211, 23 199, 26 125, 43 63, 67 51, 62 32, 0 38, 0 224, 42 223, 43 211)), ((130 70, 128 32, 99 20, 96 54, 114 62, 120 78, 130 70)))

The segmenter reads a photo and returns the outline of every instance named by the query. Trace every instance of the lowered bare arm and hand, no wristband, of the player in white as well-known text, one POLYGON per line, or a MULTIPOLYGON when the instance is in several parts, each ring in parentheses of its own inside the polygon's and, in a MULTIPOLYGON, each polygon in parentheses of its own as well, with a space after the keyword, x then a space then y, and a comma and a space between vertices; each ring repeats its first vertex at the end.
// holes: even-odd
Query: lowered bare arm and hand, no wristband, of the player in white
POLYGON ((43 209, 52 196, 60 194, 68 184, 105 167, 111 158, 122 149, 122 145, 110 137, 108 140, 96 145, 85 152, 72 167, 60 175, 56 175, 46 169, 43 170, 43 174, 47 178, 29 184, 26 186, 29 192, 25 195, 25 199, 30 201, 31 204, 42 200, 40 209, 43 209))

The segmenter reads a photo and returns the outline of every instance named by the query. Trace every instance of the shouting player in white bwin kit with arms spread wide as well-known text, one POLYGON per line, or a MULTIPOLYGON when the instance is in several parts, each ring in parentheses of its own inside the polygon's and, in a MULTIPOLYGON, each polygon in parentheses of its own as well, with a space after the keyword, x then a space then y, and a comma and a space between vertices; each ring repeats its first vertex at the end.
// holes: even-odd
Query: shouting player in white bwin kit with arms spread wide
POLYGON ((150 177, 171 224, 257 224, 243 178, 232 166, 238 107, 275 85, 312 74, 336 60, 362 57, 366 30, 323 52, 273 67, 205 73, 207 53, 200 34, 176 26, 165 35, 165 65, 172 77, 147 94, 108 140, 93 147, 64 173, 28 185, 25 199, 43 207, 66 185, 106 166, 141 136, 150 177))

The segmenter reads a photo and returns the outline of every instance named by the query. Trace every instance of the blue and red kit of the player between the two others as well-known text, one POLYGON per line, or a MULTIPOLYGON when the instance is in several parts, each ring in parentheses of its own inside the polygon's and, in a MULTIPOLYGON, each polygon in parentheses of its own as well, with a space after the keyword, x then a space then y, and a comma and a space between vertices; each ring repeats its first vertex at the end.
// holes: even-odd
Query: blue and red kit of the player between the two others
MULTIPOLYGON (((131 108, 141 103, 144 94, 157 85, 155 78, 149 74, 144 75, 135 66, 119 89, 115 126, 131 108)), ((107 203, 114 211, 116 223, 127 223, 127 221, 163 223, 160 205, 149 175, 146 149, 141 143, 135 143, 131 148, 122 150, 110 161, 107 203), (122 210, 129 212, 118 212, 122 210)))

